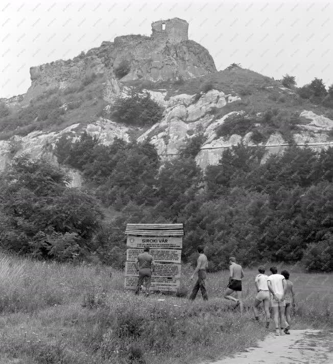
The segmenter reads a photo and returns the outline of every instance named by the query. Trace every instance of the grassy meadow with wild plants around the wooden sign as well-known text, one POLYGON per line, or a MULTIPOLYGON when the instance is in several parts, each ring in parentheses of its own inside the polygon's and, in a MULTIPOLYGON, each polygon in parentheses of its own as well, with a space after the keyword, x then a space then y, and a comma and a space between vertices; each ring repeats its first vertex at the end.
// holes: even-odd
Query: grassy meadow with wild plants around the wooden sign
MULTIPOLYGON (((268 265, 267 265, 268 267, 268 265)), ((279 270, 282 267, 279 267, 279 270)), ((290 269, 297 292, 292 328, 332 327, 332 274, 290 269)), ((0 364, 189 363, 245 350, 263 339, 264 313, 253 321, 255 269, 245 269, 245 313, 224 300, 228 272, 208 274, 209 301, 123 289, 110 267, 46 263, 0 255, 0 364), (112 277, 110 272, 112 271, 112 277)), ((183 267, 179 295, 193 272, 183 267)))

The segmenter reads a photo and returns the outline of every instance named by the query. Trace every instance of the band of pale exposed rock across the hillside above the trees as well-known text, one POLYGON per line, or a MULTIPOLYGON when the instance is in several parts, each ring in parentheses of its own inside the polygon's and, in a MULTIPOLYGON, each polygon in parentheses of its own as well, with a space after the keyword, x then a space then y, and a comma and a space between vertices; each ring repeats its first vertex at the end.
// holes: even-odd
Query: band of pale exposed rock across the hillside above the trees
MULTIPOLYGON (((210 90, 202 94, 197 100, 195 95, 187 94, 179 94, 166 99, 166 92, 149 92, 151 97, 165 108, 165 111, 162 120, 142 133, 137 140, 142 142, 148 139, 151 144, 155 145, 162 160, 175 158, 187 140, 198 133, 204 136, 204 142, 196 157, 196 161, 202 169, 208 165, 218 164, 223 150, 240 142, 252 147, 265 146, 266 153, 262 162, 265 162, 270 154, 282 152, 288 146, 281 134, 277 132, 273 133, 265 144, 253 143, 251 140, 252 133, 248 133, 244 137, 237 134, 230 137, 219 137, 217 130, 229 116, 245 115, 245 112, 242 110, 229 112, 219 119, 215 118, 214 112, 216 109, 223 111, 228 103, 239 99, 238 96, 210 90)), ((304 124, 300 124, 303 131, 295 133, 293 136, 297 145, 308 145, 315 149, 333 146, 333 142, 327 135, 327 131, 333 125, 332 120, 306 110, 301 112, 300 117, 301 120, 304 120, 304 124), (315 129, 311 129, 312 126, 315 129)), ((72 141, 75 141, 82 131, 98 137, 104 145, 111 144, 115 137, 128 142, 133 135, 131 127, 99 118, 96 122, 88 125, 73 124, 60 132, 45 133, 39 131, 30 133, 26 137, 15 136, 11 140, 0 141, 0 170, 3 170, 14 156, 22 152, 29 153, 32 158, 44 157, 57 163, 53 154, 57 140, 62 135, 67 135, 72 138, 72 141)), ((140 129, 136 128, 135 134, 139 132, 140 129)), ((71 186, 80 186, 82 183, 80 173, 73 169, 68 169, 68 173, 73 178, 71 186)))

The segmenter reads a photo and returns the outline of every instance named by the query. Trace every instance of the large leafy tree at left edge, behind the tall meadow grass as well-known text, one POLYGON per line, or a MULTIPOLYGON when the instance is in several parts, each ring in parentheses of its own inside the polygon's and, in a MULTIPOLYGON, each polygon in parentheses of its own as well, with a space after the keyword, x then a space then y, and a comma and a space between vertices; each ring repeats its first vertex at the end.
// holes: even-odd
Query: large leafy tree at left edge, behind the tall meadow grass
POLYGON ((68 188, 69 180, 61 168, 43 159, 14 159, 0 181, 4 247, 56 259, 70 251, 81 256, 90 251, 103 214, 93 197, 68 188))

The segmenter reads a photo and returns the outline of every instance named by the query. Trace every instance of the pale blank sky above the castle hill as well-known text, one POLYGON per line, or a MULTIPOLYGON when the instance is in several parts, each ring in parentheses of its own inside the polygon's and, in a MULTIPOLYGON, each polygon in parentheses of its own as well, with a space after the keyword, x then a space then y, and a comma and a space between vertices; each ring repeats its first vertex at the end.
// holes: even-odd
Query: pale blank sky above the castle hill
POLYGON ((29 68, 77 56, 102 41, 151 34, 151 23, 179 17, 209 50, 218 70, 241 63, 298 86, 333 83, 333 0, 169 1, 3 0, 0 5, 0 97, 25 93, 29 68))

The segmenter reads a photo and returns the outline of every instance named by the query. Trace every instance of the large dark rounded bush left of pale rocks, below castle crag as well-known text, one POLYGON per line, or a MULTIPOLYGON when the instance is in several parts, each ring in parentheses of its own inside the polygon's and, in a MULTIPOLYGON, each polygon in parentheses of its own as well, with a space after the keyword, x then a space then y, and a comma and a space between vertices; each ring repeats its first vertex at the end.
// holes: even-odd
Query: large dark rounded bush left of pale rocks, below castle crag
POLYGON ((113 103, 111 118, 131 125, 152 125, 162 118, 162 109, 149 92, 132 92, 130 97, 117 97, 113 103))

